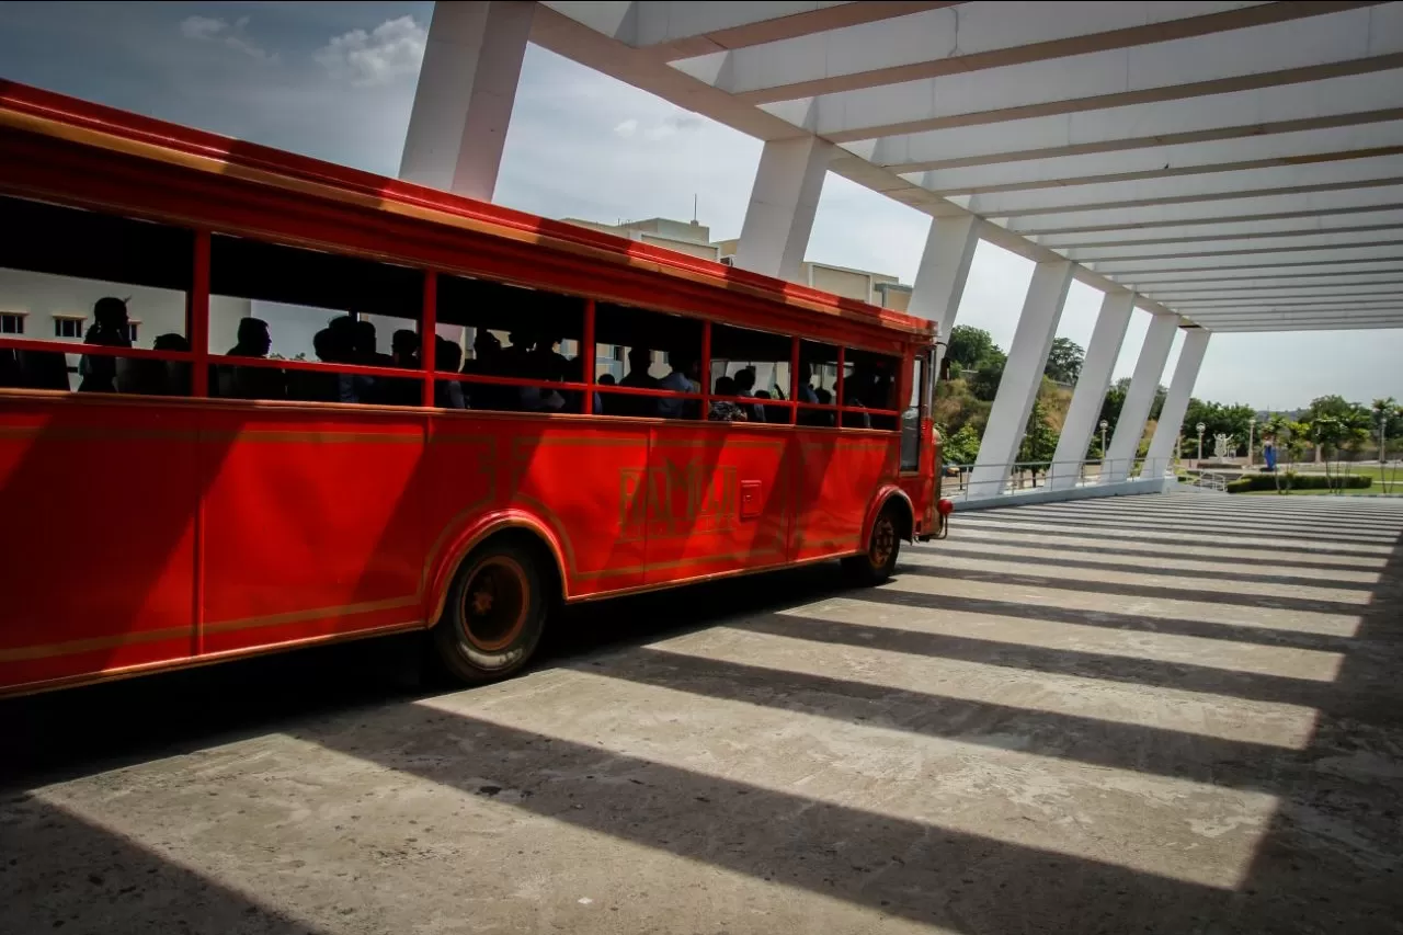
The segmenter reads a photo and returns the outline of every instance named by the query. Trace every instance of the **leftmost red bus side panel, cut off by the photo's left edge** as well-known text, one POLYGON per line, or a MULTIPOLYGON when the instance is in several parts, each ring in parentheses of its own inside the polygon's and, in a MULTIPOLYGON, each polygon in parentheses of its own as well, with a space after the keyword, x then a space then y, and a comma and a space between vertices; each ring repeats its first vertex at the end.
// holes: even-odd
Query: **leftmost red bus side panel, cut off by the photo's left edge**
POLYGON ((192 416, 0 399, 0 685, 189 656, 192 416))

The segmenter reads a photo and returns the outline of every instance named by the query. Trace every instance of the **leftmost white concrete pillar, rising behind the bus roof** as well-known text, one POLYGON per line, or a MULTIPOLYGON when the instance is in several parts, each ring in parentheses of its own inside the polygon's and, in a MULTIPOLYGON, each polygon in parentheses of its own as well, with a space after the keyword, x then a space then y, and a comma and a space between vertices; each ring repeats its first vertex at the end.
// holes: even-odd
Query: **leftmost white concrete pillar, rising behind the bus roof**
POLYGON ((491 201, 536 4, 435 3, 400 178, 491 201))

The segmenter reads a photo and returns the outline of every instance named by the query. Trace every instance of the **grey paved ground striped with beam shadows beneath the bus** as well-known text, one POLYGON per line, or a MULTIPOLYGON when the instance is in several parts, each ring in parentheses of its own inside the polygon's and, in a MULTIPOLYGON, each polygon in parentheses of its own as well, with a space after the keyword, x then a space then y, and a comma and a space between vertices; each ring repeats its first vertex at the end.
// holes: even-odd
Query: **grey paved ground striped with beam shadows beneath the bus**
POLYGON ((1403 503, 957 515, 895 580, 0 705, 0 931, 1400 932, 1403 503))

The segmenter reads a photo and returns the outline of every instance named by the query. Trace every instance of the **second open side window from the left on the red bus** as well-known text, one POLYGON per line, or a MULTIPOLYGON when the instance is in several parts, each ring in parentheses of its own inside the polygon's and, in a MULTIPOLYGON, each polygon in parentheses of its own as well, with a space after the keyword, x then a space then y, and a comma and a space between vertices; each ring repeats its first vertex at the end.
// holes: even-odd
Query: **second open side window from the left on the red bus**
POLYGON ((209 394, 417 406, 417 378, 299 364, 419 366, 424 274, 303 247, 215 234, 209 261, 209 394), (293 366, 279 366, 289 361, 293 366))

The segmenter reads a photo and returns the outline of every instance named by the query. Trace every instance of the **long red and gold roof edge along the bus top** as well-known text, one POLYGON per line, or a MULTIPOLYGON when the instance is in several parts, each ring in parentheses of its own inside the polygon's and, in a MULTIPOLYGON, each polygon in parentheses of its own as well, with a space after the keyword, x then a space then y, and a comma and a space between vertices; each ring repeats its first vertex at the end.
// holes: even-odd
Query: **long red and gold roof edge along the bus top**
POLYGON ((567 222, 0 80, 0 131, 6 129, 135 154, 220 177, 233 175, 243 181, 295 190, 303 195, 356 202, 397 216, 466 227, 478 234, 532 243, 549 251, 586 256, 596 263, 641 268, 672 279, 833 316, 846 326, 901 333, 906 336, 905 340, 934 338, 934 323, 856 299, 567 222))

